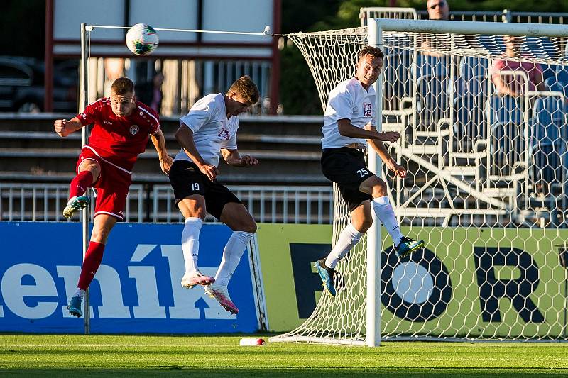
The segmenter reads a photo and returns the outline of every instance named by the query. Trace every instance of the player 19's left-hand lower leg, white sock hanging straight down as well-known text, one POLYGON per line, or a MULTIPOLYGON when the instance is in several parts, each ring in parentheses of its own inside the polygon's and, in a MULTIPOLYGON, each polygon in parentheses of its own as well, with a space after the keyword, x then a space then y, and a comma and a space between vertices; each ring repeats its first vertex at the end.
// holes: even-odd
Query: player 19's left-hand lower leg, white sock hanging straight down
POLYGON ((205 199, 200 194, 192 194, 179 201, 178 208, 185 218, 182 231, 182 250, 185 262, 182 287, 190 289, 195 285, 212 284, 214 278, 203 275, 197 267, 200 231, 205 218, 205 199))

